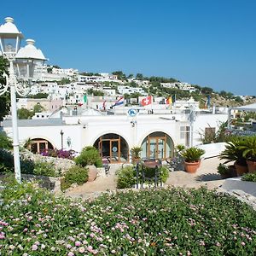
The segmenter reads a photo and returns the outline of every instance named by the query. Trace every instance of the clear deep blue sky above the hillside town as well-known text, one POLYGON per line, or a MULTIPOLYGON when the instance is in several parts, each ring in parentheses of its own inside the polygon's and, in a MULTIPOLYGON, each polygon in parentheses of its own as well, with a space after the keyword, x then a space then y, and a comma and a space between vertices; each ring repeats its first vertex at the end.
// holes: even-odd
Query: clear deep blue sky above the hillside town
MULTIPOLYGON (((164 76, 255 96, 254 0, 1 2, 49 64, 164 76)), ((25 44, 25 42, 24 42, 25 44)))

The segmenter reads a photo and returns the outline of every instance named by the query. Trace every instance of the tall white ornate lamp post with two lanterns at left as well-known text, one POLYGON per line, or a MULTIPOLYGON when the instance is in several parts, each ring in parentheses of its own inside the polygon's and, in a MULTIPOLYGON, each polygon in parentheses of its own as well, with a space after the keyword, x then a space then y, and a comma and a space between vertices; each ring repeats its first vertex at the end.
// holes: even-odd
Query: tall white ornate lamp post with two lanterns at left
MULTIPOLYGON (((13 146, 14 146, 14 162, 15 162, 15 179, 21 183, 20 177, 20 150, 19 150, 19 135, 17 125, 17 106, 16 106, 16 92, 20 95, 26 94, 26 84, 20 83, 17 80, 15 71, 19 75, 20 70, 26 70, 28 73, 26 77, 20 77, 22 80, 29 80, 30 74, 36 64, 36 61, 45 61, 44 55, 38 55, 40 50, 34 46, 27 46, 20 49, 20 41, 23 35, 14 24, 13 18, 5 18, 5 24, 0 26, 0 47, 1 54, 9 61, 9 76, 4 74, 6 84, 0 84, 0 95, 3 95, 10 89, 11 97, 11 113, 12 113, 12 128, 13 128, 13 146), (20 49, 20 51, 19 51, 20 49), (27 52, 30 51, 30 55, 27 52), (30 65, 29 63, 32 63, 30 65), (24 69, 26 65, 27 69, 24 69), (23 66, 23 67, 22 67, 23 66)), ((41 52, 42 53, 42 52, 41 52)))

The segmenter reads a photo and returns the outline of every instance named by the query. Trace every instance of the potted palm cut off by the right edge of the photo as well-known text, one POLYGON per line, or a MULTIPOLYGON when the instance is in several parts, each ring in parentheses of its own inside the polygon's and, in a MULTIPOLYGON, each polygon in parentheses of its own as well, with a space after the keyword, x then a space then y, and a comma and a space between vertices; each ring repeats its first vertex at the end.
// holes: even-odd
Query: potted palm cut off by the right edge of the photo
POLYGON ((256 136, 246 137, 241 149, 242 156, 247 160, 248 172, 256 172, 256 136))

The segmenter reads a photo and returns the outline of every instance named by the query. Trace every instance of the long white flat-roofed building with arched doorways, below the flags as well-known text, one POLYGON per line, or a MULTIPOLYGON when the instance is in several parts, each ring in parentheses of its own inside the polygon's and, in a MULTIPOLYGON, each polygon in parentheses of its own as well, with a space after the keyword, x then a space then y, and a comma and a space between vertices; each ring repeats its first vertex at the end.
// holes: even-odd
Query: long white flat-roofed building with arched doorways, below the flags
MULTIPOLYGON (((227 113, 197 112, 195 121, 190 122, 189 110, 176 113, 165 107, 148 113, 149 107, 132 108, 136 113, 133 116, 129 109, 120 106, 103 112, 84 107, 53 114, 49 119, 19 120, 20 144, 32 139, 34 152, 44 148, 80 152, 85 146, 94 145, 112 163, 130 161, 131 148, 140 146, 143 158, 165 160, 172 157, 177 144, 200 144, 202 132, 218 130, 220 122, 228 118, 227 113)), ((3 121, 3 130, 12 137, 10 120, 3 121)))

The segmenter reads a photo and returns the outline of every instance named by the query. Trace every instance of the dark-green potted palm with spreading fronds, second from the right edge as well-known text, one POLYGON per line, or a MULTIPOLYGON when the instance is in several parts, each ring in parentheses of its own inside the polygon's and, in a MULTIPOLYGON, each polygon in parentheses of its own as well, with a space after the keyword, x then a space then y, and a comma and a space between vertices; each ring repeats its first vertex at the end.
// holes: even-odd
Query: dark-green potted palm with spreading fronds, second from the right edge
POLYGON ((226 143, 224 151, 220 154, 220 159, 226 160, 224 164, 227 164, 231 161, 235 161, 237 176, 241 176, 242 174, 248 172, 247 160, 243 156, 244 145, 244 138, 233 138, 232 141, 226 143))

